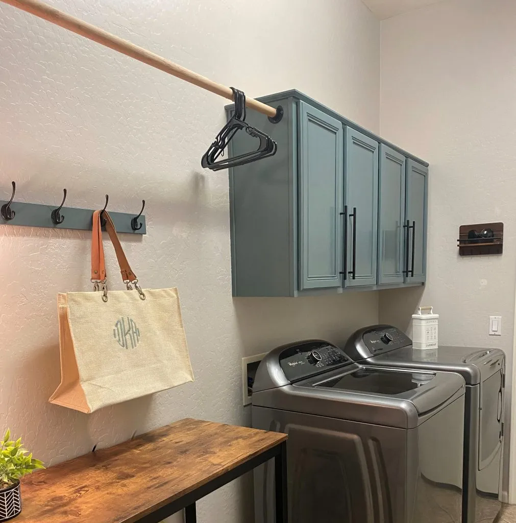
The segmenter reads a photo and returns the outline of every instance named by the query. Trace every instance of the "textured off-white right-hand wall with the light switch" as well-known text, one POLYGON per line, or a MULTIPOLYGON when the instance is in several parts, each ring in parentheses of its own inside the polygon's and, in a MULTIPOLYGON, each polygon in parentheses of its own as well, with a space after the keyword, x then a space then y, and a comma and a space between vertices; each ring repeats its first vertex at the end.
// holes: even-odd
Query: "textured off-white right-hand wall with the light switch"
MULTIPOLYGON (((427 285, 424 292, 382 291, 380 319, 406 328, 419 301, 433 305, 441 345, 500 347, 509 376, 516 281, 514 20, 513 0, 451 0, 384 20, 381 38, 382 136, 428 160, 430 177, 427 285), (496 221, 504 224, 502 256, 458 255, 460 225, 496 221), (500 337, 488 336, 489 315, 503 317, 500 337)), ((506 422, 509 415, 508 402, 506 422)))

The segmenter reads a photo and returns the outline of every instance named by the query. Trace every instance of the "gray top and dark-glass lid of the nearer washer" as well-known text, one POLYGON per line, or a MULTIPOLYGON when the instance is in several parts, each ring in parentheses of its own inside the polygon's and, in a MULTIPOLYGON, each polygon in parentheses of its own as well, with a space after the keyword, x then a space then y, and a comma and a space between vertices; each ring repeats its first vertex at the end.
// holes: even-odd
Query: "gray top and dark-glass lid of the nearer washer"
POLYGON ((464 390, 464 380, 453 372, 353 364, 294 384, 254 391, 253 406, 410 429, 457 400, 464 390))

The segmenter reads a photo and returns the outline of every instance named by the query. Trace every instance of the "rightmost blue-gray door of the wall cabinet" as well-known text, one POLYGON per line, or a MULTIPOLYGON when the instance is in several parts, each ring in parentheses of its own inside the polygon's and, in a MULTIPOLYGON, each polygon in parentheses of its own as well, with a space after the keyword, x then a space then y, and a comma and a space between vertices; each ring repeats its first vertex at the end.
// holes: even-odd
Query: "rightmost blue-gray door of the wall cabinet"
POLYGON ((407 282, 424 282, 427 277, 427 201, 428 168, 413 160, 407 160, 407 282))

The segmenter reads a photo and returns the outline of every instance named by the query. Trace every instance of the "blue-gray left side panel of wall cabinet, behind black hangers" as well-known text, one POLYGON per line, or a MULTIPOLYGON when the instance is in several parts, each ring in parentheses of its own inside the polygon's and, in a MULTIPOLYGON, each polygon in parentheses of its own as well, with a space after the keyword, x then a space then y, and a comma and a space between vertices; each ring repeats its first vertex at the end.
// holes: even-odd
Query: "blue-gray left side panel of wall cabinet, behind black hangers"
MULTIPOLYGON (((234 296, 295 296, 298 290, 297 106, 287 99, 278 103, 281 122, 249 110, 246 119, 276 140, 278 152, 229 172, 234 296)), ((229 154, 254 149, 256 139, 237 132, 229 154)))

